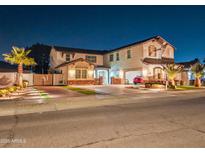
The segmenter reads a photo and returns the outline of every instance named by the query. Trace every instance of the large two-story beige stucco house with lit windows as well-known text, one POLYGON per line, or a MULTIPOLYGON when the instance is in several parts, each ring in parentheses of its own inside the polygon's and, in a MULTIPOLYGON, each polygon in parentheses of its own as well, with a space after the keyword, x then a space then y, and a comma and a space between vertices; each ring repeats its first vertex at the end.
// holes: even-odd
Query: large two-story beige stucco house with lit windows
POLYGON ((164 80, 162 64, 174 63, 175 48, 160 36, 113 50, 87 50, 54 46, 50 52, 51 71, 64 74, 67 84, 133 83, 133 78, 164 80), (115 82, 120 81, 120 82, 115 82))

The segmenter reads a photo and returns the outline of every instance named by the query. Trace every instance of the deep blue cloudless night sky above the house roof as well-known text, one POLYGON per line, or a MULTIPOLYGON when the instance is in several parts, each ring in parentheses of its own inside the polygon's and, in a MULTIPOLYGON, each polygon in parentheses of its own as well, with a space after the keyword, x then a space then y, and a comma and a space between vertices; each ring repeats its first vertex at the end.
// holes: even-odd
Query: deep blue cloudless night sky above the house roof
POLYGON ((0 6, 0 53, 37 42, 112 49, 154 35, 177 62, 205 58, 205 6, 0 6))

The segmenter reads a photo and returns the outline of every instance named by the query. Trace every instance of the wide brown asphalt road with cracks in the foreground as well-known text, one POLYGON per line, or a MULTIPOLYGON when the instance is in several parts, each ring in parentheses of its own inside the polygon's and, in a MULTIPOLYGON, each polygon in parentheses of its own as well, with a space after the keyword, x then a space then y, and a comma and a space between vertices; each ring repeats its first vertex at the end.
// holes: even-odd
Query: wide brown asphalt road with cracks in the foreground
POLYGON ((1 147, 205 147, 205 93, 0 117, 0 142, 1 147))

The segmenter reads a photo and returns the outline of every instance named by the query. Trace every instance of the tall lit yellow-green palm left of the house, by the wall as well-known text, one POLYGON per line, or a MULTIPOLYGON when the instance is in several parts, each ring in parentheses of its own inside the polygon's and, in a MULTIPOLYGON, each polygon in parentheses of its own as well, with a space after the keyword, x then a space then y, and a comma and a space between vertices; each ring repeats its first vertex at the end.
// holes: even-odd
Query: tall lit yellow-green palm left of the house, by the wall
POLYGON ((23 65, 31 66, 36 65, 33 58, 28 57, 31 50, 25 50, 24 48, 12 47, 10 54, 3 54, 4 60, 18 65, 18 85, 23 86, 23 65))

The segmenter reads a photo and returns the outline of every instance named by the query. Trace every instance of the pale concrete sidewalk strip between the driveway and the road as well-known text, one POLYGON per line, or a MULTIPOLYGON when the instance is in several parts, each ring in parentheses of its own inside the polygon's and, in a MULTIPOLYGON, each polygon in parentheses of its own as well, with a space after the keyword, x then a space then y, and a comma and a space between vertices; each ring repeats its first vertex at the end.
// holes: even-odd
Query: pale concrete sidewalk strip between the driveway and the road
MULTIPOLYGON (((172 93, 170 93, 172 94, 172 93)), ((189 95, 191 96, 191 95, 189 95)), ((189 98, 183 97, 181 100, 186 100, 189 98)), ((110 96, 104 99, 97 99, 96 97, 81 97, 81 99, 57 99, 58 102, 53 103, 54 99, 45 99, 43 103, 35 104, 23 104, 19 105, 17 103, 3 106, 0 108, 0 117, 1 116, 13 116, 29 113, 42 113, 50 111, 62 111, 69 109, 82 109, 89 107, 100 107, 100 106, 113 106, 113 105, 123 105, 123 104, 132 104, 132 103, 143 103, 152 102, 153 98, 167 99, 168 97, 178 98, 176 95, 153 95, 153 96, 134 96, 134 97, 125 97, 125 96, 110 96), (83 101, 82 101, 83 100, 83 101), (130 102, 130 100, 134 100, 130 102)), ((56 99, 55 99, 56 100, 56 99)))

